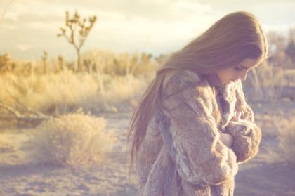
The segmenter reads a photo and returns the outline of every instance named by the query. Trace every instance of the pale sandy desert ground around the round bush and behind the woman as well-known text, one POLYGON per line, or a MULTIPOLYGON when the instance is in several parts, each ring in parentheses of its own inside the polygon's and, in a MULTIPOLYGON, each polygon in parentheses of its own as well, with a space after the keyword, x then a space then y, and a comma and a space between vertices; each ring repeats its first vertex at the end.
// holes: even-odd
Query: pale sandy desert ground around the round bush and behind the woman
MULTIPOLYGON (((294 103, 253 104, 256 122, 263 115, 295 116, 294 103), (278 107, 280 106, 280 107, 278 107), (277 108, 281 108, 277 110, 277 108)), ((77 167, 37 164, 26 157, 30 129, 0 132, 11 141, 0 149, 0 195, 137 195, 135 181, 128 180, 126 128, 130 112, 101 114, 107 129, 117 134, 119 142, 102 164, 77 167)), ((276 162, 269 153, 277 148, 277 134, 263 130, 258 155, 240 165, 235 181, 235 195, 295 195, 295 165, 276 162)))

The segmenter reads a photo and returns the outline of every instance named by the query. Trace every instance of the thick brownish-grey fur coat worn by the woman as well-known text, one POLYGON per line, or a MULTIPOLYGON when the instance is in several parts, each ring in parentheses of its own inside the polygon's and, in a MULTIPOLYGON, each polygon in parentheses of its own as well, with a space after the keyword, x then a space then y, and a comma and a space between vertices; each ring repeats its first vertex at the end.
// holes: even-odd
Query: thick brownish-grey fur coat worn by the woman
POLYGON ((138 195, 233 195, 239 164, 261 141, 240 79, 222 85, 216 74, 178 70, 165 77, 161 100, 138 150, 138 195), (231 148, 221 133, 233 136, 231 148))

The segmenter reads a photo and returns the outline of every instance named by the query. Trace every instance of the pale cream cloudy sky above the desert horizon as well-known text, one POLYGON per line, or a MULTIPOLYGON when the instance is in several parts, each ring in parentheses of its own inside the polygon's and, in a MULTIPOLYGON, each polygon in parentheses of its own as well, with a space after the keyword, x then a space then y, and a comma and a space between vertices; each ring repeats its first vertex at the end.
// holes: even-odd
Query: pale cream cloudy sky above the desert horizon
POLYGON ((170 53, 234 11, 254 13, 266 32, 295 27, 293 0, 0 0, 0 55, 32 59, 48 51, 73 58, 74 48, 56 34, 65 11, 75 10, 98 18, 82 52, 170 53))

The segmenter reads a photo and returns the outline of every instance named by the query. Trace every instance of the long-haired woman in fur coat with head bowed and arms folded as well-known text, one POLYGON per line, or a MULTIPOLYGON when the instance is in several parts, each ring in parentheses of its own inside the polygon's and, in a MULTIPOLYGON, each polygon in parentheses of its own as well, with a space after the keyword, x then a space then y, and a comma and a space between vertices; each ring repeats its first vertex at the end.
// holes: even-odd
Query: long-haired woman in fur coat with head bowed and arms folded
POLYGON ((241 80, 265 58, 261 25, 240 11, 166 60, 129 124, 139 195, 233 195, 261 141, 241 80))

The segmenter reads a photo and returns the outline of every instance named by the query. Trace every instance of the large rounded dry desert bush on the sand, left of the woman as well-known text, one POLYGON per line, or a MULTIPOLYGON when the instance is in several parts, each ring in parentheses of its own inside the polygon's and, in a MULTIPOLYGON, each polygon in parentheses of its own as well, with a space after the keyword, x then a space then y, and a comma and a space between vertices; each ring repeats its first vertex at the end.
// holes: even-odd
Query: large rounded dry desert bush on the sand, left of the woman
POLYGON ((32 137, 32 157, 62 166, 102 163, 117 140, 105 126, 103 117, 81 112, 43 122, 32 137))

